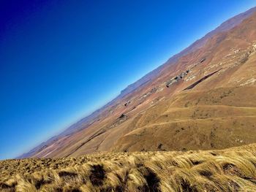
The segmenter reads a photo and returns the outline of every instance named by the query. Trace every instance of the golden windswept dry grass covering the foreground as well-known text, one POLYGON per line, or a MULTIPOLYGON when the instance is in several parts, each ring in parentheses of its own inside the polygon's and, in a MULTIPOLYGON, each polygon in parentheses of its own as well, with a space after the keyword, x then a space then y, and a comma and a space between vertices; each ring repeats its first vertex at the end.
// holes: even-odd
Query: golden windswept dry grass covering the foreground
POLYGON ((0 191, 256 191, 255 146, 0 161, 0 191))

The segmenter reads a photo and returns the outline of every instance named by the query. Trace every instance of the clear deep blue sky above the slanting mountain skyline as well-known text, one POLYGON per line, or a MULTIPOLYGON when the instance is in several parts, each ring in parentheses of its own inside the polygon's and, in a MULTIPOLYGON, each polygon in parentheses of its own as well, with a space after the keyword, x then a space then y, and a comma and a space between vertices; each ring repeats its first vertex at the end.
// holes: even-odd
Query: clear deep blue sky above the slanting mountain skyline
POLYGON ((1 0, 0 159, 64 130, 255 0, 1 0))

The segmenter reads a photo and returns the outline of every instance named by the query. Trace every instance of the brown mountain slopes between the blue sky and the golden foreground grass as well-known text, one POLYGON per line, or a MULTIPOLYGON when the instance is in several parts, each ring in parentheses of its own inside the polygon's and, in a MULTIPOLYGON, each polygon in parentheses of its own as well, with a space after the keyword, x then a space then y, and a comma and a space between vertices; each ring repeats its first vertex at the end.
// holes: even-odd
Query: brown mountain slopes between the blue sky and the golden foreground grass
POLYGON ((256 142, 256 7, 18 158, 217 150, 256 142))

